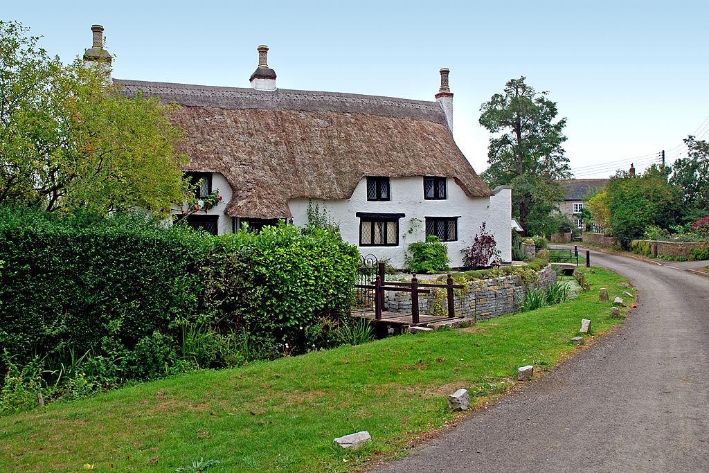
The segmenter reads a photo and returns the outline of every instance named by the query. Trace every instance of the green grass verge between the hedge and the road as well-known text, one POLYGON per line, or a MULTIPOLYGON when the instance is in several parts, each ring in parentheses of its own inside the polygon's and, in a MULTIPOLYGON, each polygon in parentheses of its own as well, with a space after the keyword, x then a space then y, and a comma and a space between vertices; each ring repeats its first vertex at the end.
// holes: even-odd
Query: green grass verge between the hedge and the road
POLYGON ((425 433, 466 416, 447 408, 456 389, 468 389, 479 406, 518 384, 518 367, 551 369, 576 349, 569 338, 581 318, 591 319, 595 334, 619 323, 610 304, 598 302, 598 288, 607 287, 611 301, 634 289, 594 270, 591 291, 575 301, 472 328, 195 372, 5 416, 0 472, 74 473, 91 465, 95 472, 174 472, 201 459, 219 462, 209 473, 357 471, 404 455, 425 433), (357 452, 333 446, 333 438, 359 430, 372 443, 357 452))

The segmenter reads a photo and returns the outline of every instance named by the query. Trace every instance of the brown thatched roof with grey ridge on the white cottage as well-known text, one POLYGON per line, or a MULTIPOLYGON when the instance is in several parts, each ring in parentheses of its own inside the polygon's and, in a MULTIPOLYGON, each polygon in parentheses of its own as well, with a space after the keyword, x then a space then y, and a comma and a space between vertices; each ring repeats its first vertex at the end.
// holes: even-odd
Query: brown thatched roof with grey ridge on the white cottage
POLYGON ((114 79, 123 93, 175 101, 186 171, 220 172, 230 216, 291 216, 289 199, 348 199, 365 176, 451 177, 491 196, 437 102, 330 92, 257 91, 114 79))

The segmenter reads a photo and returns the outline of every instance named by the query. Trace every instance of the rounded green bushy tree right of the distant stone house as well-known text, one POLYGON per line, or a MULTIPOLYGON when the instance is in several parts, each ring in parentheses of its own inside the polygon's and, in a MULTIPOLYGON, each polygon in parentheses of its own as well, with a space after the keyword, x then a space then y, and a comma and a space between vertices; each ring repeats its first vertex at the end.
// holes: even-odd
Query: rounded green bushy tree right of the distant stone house
POLYGON ((681 192, 668 177, 669 168, 653 165, 640 177, 618 171, 608 182, 610 229, 623 247, 640 238, 647 226, 669 228, 676 223, 681 192))

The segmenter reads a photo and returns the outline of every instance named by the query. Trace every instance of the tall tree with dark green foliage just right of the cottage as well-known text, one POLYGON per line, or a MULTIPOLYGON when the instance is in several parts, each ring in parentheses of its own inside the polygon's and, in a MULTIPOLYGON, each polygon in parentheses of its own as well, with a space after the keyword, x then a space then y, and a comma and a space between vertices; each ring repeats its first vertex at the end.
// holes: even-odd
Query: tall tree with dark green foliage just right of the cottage
POLYGON ((547 233, 532 215, 547 215, 564 196, 557 182, 571 177, 562 143, 566 118, 557 120, 557 104, 548 92, 537 92, 525 77, 511 79, 480 111, 480 124, 490 138, 489 168, 482 174, 491 186, 513 186, 513 213, 527 233, 547 233))

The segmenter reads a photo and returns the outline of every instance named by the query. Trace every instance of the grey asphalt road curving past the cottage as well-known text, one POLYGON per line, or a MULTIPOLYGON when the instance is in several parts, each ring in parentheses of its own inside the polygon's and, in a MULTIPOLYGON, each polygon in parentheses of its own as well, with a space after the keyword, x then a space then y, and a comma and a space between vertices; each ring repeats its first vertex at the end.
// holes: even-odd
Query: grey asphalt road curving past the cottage
POLYGON ((625 324, 372 471, 709 472, 709 277, 594 250, 591 262, 636 287, 625 324))

